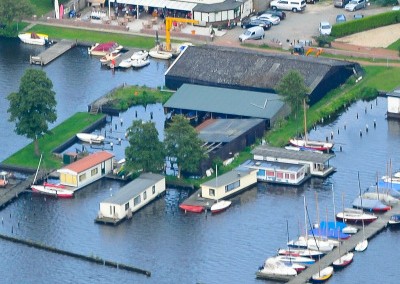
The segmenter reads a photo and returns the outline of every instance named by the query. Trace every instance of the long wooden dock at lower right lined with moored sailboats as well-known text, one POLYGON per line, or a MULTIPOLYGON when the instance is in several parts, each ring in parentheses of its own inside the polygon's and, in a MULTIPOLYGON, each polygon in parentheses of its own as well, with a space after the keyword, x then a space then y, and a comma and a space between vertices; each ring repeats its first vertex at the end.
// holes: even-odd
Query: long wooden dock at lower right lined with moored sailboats
MULTIPOLYGON (((340 256, 343 256, 348 251, 354 251, 356 245, 364 239, 364 235, 366 239, 370 240, 372 237, 376 236, 378 233, 384 230, 387 227, 390 216, 394 214, 400 214, 400 205, 395 205, 392 210, 389 210, 388 212, 379 215, 379 218, 376 221, 372 222, 368 226, 365 226, 364 234, 362 229, 360 229, 357 234, 353 235, 348 240, 343 241, 342 246, 340 247, 340 256)), ((354 255, 354 260, 357 261, 358 257, 363 257, 362 253, 356 253, 354 255)), ((335 248, 332 252, 326 254, 318 262, 316 262, 312 266, 309 266, 306 270, 301 272, 299 275, 297 275, 295 278, 287 283, 308 283, 311 277, 319 272, 319 269, 323 269, 327 266, 332 265, 332 263, 338 258, 339 249, 335 248)), ((332 277, 335 277, 335 274, 333 274, 332 277)))

